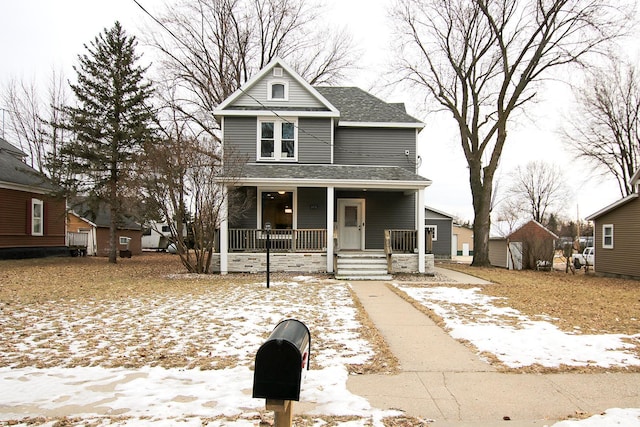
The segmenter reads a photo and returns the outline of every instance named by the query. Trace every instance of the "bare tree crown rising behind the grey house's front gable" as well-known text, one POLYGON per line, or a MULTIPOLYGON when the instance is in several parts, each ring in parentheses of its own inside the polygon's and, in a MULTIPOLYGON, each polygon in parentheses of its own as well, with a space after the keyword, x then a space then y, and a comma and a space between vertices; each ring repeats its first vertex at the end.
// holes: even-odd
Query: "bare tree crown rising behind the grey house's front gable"
POLYGON ((275 57, 287 59, 312 84, 331 83, 354 66, 346 31, 318 29, 305 0, 196 0, 158 18, 150 43, 182 91, 179 108, 203 129, 210 113, 275 57), (187 102, 188 101, 188 102, 187 102))

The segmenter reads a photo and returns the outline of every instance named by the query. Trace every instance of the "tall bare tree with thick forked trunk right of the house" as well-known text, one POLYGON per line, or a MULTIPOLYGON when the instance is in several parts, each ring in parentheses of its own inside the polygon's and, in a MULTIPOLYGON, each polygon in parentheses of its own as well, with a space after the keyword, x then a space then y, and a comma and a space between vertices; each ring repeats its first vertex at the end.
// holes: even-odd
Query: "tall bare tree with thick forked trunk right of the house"
POLYGON ((474 266, 489 265, 493 180, 515 112, 553 68, 624 28, 606 0, 400 0, 399 78, 426 90, 459 129, 474 207, 474 266))

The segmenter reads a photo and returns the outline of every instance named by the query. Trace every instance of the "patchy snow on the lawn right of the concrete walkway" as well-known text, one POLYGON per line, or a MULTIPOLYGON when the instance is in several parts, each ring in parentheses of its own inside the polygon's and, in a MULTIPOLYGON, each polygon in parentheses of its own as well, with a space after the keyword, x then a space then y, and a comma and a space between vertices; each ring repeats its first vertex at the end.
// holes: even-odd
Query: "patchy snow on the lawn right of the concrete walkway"
POLYGON ((440 316, 452 337, 468 340, 511 368, 640 365, 640 359, 626 351, 633 345, 625 342, 640 340, 640 334, 564 332, 548 321, 495 306, 498 298, 483 295, 480 288, 395 286, 440 316))

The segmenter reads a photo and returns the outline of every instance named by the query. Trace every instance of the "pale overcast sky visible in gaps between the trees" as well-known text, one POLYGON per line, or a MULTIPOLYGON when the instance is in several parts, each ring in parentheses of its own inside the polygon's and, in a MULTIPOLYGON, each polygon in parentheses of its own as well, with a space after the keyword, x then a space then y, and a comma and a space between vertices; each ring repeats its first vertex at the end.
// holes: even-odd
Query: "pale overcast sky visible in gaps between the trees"
MULTIPOLYGON (((150 11, 156 0, 139 0, 150 11)), ((450 115, 424 111, 421 99, 411 93, 376 86, 390 55, 391 31, 387 18, 389 0, 327 0, 327 19, 347 25, 363 52, 362 70, 348 85, 360 86, 389 102, 406 102, 409 112, 426 123, 420 134, 421 175, 431 179, 426 203, 440 211, 473 219, 466 161, 450 115)), ((129 34, 144 31, 145 14, 133 0, 0 0, 0 88, 12 78, 46 81, 53 68, 73 77, 71 66, 83 45, 105 27, 119 20, 129 34)), ((156 9, 157 10, 157 9, 156 9)), ((150 58, 150 55, 147 55, 150 58)), ((43 90, 46 86, 43 85, 43 90)), ((507 173, 529 160, 544 159, 559 164, 574 197, 567 203, 567 215, 585 217, 614 202, 619 196, 613 181, 585 182, 589 176, 583 164, 572 159, 557 136, 562 114, 570 113, 568 88, 556 85, 542 102, 528 111, 517 128, 509 132, 499 171, 507 173)), ((1 106, 0 106, 1 107, 1 106)), ((505 183, 502 184, 506 185, 505 183)))

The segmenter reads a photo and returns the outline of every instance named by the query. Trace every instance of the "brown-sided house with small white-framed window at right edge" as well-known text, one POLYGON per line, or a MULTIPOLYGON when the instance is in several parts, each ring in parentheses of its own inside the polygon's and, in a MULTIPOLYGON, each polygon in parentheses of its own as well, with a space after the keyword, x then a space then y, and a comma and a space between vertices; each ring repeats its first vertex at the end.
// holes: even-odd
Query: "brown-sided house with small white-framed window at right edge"
POLYGON ((596 273, 640 279, 640 169, 631 177, 635 193, 587 217, 593 221, 596 273))

